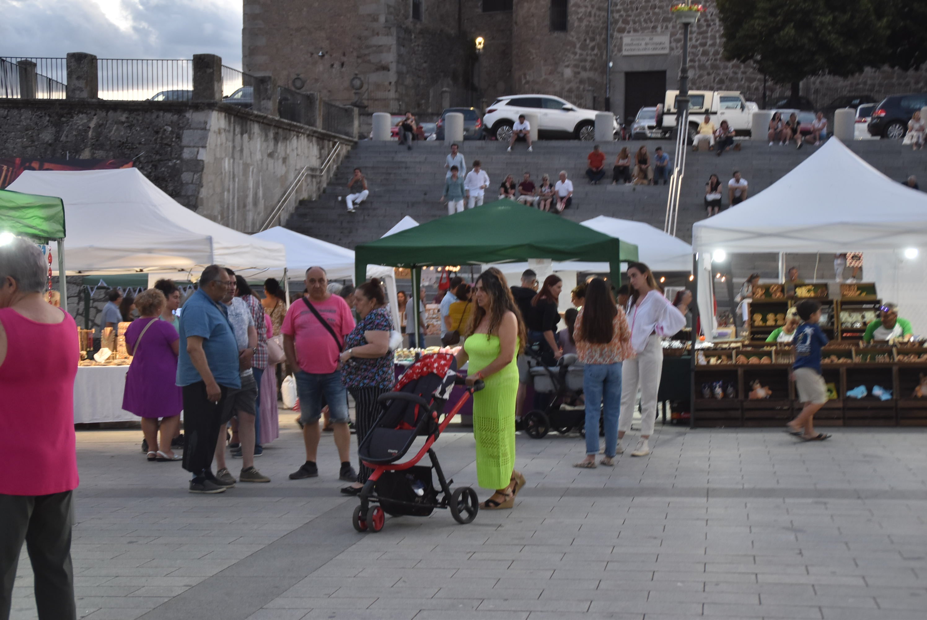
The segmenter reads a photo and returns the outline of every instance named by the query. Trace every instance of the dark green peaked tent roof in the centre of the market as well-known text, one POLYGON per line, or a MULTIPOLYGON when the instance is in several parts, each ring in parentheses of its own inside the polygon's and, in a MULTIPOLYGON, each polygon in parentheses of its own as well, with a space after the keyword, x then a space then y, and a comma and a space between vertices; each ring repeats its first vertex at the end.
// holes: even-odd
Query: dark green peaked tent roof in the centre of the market
MULTIPOLYGON (((438 208, 436 206, 436 208, 438 208)), ((366 265, 479 265, 549 258, 600 261, 620 282, 620 264, 638 260, 637 246, 514 200, 496 200, 426 222, 354 249, 358 282, 366 265)))

